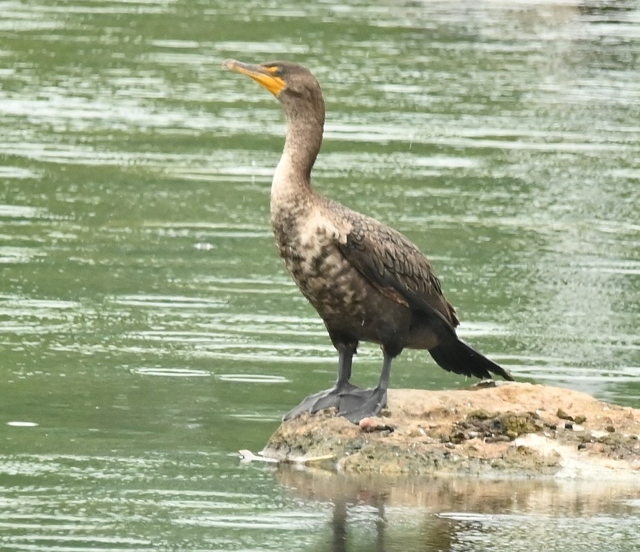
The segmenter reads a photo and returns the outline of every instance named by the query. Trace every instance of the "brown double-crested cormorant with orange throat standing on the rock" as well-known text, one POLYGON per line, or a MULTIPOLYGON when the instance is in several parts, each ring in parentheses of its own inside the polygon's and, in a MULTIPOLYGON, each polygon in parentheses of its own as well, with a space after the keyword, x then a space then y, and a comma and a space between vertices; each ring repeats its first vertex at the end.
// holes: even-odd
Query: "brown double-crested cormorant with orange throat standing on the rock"
POLYGON ((249 65, 234 59, 225 68, 248 75, 279 99, 287 137, 271 187, 271 224, 279 253, 303 295, 316 308, 338 351, 335 386, 305 398, 285 415, 336 407, 352 422, 386 406, 392 360, 405 347, 427 349, 435 362, 457 374, 513 380, 455 333, 458 317, 422 252, 379 221, 322 197, 311 187, 325 118, 320 85, 296 63, 249 65), (374 389, 353 385, 351 361, 358 342, 382 346, 384 361, 374 389))

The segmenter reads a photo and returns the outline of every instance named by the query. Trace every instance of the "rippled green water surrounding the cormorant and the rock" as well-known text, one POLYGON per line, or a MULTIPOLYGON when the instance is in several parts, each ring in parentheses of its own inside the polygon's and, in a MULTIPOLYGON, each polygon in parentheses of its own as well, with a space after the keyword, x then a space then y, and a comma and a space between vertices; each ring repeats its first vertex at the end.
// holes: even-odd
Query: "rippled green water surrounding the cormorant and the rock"
MULTIPOLYGON (((316 186, 420 245, 516 377, 640 406, 632 1, 0 0, 0 550, 638 549, 640 494, 243 465, 335 377, 268 224, 305 63, 316 186)), ((355 380, 377 380, 363 346, 355 380)), ((465 386, 406 351, 396 387, 465 386)))

